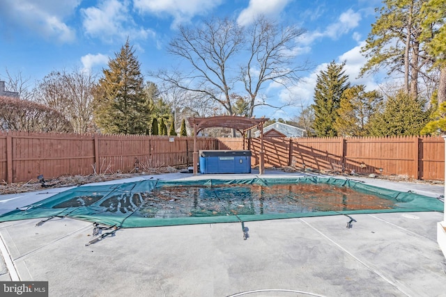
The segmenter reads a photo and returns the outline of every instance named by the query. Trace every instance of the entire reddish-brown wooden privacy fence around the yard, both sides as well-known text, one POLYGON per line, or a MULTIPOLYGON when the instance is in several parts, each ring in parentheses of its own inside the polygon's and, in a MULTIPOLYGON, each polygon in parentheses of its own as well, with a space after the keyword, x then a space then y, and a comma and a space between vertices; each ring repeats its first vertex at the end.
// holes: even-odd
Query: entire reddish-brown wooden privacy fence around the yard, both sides
MULTIPOLYGON (((263 138, 269 166, 445 178, 442 137, 263 138)), ((0 181, 27 182, 38 175, 132 172, 192 166, 192 137, 0 132, 0 181)), ((198 138, 199 150, 251 150, 259 164, 259 138, 198 138)))

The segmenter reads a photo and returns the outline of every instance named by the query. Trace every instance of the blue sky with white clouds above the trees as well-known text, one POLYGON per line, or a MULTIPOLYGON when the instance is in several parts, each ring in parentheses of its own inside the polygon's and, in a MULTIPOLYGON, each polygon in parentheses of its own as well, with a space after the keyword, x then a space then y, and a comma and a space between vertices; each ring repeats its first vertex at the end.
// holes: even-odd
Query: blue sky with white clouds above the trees
MULTIPOLYGON (((1 0, 0 79, 20 73, 33 83, 53 70, 74 67, 101 73, 129 37, 141 72, 171 67, 165 53, 178 24, 210 16, 233 17, 247 24, 266 15, 296 24, 307 33, 296 42, 296 61, 312 69, 291 90, 268 86, 268 102, 295 106, 257 109, 257 116, 289 119, 312 104, 316 74, 330 61, 346 61, 351 83, 378 88, 376 77, 356 79, 365 58, 360 47, 376 20, 380 0, 1 0)), ((146 79, 153 80, 146 76, 146 79)))

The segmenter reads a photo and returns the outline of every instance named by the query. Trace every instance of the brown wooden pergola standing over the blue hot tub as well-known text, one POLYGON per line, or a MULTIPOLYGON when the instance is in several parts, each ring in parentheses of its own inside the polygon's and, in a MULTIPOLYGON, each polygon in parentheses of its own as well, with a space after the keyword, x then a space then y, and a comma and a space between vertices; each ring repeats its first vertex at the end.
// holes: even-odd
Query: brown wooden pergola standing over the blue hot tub
POLYGON ((197 135, 199 131, 206 128, 231 128, 239 131, 243 138, 245 138, 246 131, 258 128, 260 131, 260 160, 259 160, 259 173, 263 175, 265 171, 264 156, 265 150, 263 147, 263 124, 269 120, 269 118, 247 118, 237 115, 217 115, 209 118, 187 118, 190 127, 194 127, 194 175, 198 173, 198 147, 197 147, 197 135))

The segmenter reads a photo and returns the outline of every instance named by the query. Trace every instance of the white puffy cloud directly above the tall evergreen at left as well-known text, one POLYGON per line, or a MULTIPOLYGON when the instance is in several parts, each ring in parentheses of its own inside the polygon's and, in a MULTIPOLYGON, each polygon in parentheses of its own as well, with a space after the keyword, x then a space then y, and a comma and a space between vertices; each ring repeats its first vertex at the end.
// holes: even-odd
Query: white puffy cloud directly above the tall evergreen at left
POLYGON ((85 33, 108 42, 114 38, 125 40, 129 36, 132 39, 155 36, 151 29, 137 28, 129 5, 128 1, 106 0, 98 6, 82 9, 85 33))

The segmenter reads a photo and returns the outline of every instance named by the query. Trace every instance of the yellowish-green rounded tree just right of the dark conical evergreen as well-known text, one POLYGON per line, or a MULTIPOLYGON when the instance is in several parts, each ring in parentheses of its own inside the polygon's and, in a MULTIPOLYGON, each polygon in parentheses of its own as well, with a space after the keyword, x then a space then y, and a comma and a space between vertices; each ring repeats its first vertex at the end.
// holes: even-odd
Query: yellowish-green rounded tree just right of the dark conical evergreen
POLYGON ((383 97, 377 91, 365 92, 365 86, 353 86, 341 97, 338 118, 334 123, 339 136, 367 136, 372 115, 383 108, 383 97))

